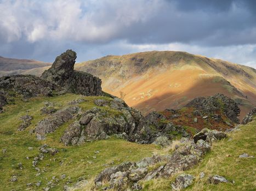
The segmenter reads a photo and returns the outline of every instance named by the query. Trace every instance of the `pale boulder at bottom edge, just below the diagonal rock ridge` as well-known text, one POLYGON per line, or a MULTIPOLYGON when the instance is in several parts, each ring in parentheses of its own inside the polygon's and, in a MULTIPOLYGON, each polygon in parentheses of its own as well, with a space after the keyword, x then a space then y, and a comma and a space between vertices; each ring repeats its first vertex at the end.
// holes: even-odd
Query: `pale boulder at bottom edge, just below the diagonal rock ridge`
POLYGON ((193 175, 181 174, 181 175, 177 176, 175 182, 172 183, 172 188, 173 188, 173 190, 184 189, 184 188, 190 186, 193 183, 194 179, 195 179, 195 177, 193 175))

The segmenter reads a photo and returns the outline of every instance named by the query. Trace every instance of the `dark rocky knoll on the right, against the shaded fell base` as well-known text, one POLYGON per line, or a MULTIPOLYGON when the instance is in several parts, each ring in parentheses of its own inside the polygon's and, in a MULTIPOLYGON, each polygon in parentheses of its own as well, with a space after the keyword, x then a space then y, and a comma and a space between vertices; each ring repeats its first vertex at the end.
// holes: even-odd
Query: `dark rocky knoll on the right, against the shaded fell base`
POLYGON ((203 111, 205 114, 214 114, 216 111, 223 111, 225 116, 232 122, 239 123, 237 116, 240 114, 236 102, 223 94, 215 96, 198 97, 186 105, 203 111))

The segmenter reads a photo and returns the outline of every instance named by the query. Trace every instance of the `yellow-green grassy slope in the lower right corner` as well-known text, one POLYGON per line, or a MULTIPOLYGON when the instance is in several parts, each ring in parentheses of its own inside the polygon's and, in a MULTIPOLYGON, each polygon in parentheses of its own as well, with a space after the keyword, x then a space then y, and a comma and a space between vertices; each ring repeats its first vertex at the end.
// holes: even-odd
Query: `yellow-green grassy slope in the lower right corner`
MULTIPOLYGON (((241 130, 230 133, 228 138, 215 142, 212 151, 202 162, 186 171, 196 176, 195 183, 186 190, 255 190, 256 189, 256 158, 238 158, 240 154, 248 153, 256 157, 256 121, 241 126, 241 130), (231 138, 231 139, 230 139, 231 138), (199 179, 200 172, 206 176, 199 179), (235 183, 209 184, 207 178, 220 175, 235 183)), ((169 180, 157 179, 144 182, 144 190, 170 190, 170 184, 175 177, 169 180)))

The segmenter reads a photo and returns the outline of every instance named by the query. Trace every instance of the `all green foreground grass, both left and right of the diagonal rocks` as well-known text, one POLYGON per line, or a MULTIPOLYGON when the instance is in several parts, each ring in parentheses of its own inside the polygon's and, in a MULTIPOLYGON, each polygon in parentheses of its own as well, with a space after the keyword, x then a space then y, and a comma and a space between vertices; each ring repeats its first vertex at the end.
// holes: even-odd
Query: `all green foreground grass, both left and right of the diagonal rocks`
MULTIPOLYGON (((108 97, 101 99, 112 100, 108 97)), ((98 107, 94 100, 99 97, 84 97, 76 94, 65 94, 54 97, 36 97, 22 100, 14 98, 14 105, 5 106, 5 111, 0 114, 0 189, 25 190, 53 187, 50 190, 63 190, 64 186, 73 187, 74 190, 91 190, 94 187, 93 180, 100 171, 107 167, 121 164, 122 162, 136 162, 153 154, 170 154, 174 146, 161 148, 154 144, 138 144, 128 142, 111 136, 106 140, 85 142, 82 145, 65 146, 60 142, 61 135, 75 119, 62 124, 54 133, 47 135, 45 140, 37 140, 32 130, 38 122, 47 117, 42 114, 45 104, 52 103, 59 110, 69 106, 73 100, 86 100, 78 104, 83 111, 93 107, 107 110, 110 115, 118 114, 116 110, 107 107, 98 107), (33 120, 26 130, 18 131, 21 124, 20 118, 24 115, 33 116, 33 120), (39 148, 44 144, 56 148, 56 154, 43 154, 35 166, 32 161, 36 160, 39 148), (21 163, 21 165, 20 165, 21 163), (16 177, 16 182, 10 182, 16 177)), ((208 152, 201 163, 185 171, 196 177, 196 181, 187 190, 253 190, 255 188, 255 158, 238 158, 240 154, 248 153, 256 156, 255 147, 256 121, 240 126, 239 131, 228 134, 228 138, 215 142, 211 152, 208 152), (200 172, 205 177, 200 180, 200 172), (209 184, 207 178, 211 175, 221 175, 235 183, 209 184)), ((156 168, 160 164, 151 166, 156 168)), ((178 174, 177 174, 178 175, 178 174)), ((172 178, 157 178, 141 182, 143 190, 170 190, 172 178)), ((94 189, 92 189, 94 190, 94 189)), ((101 190, 101 189, 95 189, 101 190)))

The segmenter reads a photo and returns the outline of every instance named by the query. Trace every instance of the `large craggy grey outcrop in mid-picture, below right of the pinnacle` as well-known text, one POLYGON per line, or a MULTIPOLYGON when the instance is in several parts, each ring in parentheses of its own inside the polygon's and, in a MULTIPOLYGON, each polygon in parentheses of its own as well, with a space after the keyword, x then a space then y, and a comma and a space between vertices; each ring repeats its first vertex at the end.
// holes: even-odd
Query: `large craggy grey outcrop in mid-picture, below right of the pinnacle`
MULTIPOLYGON (((144 117, 138 110, 129 108, 121 99, 95 100, 117 111, 109 115, 106 109, 93 108, 83 112, 64 132, 61 141, 65 144, 82 144, 86 140, 105 139, 108 135, 122 134, 127 140, 149 143, 151 131, 145 125, 144 117)), ((151 141, 152 142, 152 141, 151 141)))

